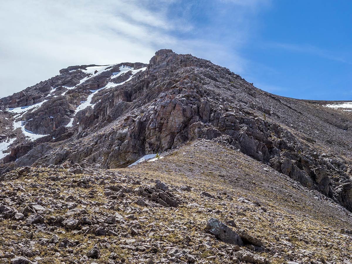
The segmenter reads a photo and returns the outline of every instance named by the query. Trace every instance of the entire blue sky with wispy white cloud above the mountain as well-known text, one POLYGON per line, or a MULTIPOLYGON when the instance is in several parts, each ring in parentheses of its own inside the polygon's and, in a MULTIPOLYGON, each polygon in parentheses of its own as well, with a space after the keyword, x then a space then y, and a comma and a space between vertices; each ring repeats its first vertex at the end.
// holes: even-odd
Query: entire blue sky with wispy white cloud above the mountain
POLYGON ((351 11, 343 0, 7 1, 0 97, 69 65, 148 62, 170 48, 274 94, 352 100, 351 11))

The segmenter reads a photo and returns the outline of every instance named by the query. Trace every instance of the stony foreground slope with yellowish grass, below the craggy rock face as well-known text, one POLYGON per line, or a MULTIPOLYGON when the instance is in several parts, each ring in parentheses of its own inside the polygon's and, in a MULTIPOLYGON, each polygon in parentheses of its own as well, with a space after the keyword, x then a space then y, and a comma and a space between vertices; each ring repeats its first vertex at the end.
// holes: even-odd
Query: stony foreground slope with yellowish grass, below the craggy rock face
POLYGON ((351 212, 212 140, 129 168, 81 172, 6 174, 5 263, 17 256, 34 263, 351 261, 351 212), (216 239, 206 228, 210 218, 237 231, 244 245, 216 239))

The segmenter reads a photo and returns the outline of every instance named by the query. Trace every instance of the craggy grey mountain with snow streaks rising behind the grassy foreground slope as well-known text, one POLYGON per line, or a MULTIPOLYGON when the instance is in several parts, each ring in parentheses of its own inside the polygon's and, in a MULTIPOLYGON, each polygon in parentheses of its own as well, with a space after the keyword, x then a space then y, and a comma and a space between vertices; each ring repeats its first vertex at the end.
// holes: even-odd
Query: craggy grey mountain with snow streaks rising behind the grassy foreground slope
POLYGON ((4 110, 13 121, 24 121, 26 130, 48 136, 29 141, 19 129, 6 132, 17 141, 0 170, 13 164, 121 168, 204 138, 269 164, 352 210, 351 161, 342 158, 342 152, 352 154, 352 119, 331 115, 333 110, 316 102, 266 93, 205 59, 159 50, 149 64, 72 66, 0 104, 8 109, 44 100, 21 117, 4 110), (317 118, 317 107, 326 120, 317 118), (331 133, 317 136, 319 127, 331 133), (329 146, 335 157, 321 152, 326 142, 335 142, 329 146))

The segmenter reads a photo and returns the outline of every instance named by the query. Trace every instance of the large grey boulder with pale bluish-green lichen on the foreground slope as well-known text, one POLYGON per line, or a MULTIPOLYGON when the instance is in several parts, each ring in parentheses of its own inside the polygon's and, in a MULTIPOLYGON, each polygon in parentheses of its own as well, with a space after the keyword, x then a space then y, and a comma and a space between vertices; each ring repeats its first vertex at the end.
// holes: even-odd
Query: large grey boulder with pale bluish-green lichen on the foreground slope
POLYGON ((243 246, 241 237, 218 219, 210 218, 207 222, 206 231, 225 243, 243 246))

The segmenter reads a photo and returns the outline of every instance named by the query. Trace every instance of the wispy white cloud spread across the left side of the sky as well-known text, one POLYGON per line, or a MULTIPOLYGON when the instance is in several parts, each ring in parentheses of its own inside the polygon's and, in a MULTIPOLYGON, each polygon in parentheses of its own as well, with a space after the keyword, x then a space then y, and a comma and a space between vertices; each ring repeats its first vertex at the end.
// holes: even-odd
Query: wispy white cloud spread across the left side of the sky
POLYGON ((214 14, 208 14, 210 27, 193 21, 194 5, 188 1, 2 2, 0 97, 55 76, 69 65, 147 63, 160 48, 243 71, 246 62, 238 49, 250 34, 253 18, 248 12, 263 4, 245 2, 219 0, 214 14), (231 14, 233 20, 224 23, 228 5, 238 8, 231 14), (174 14, 173 8, 182 12, 174 14))

